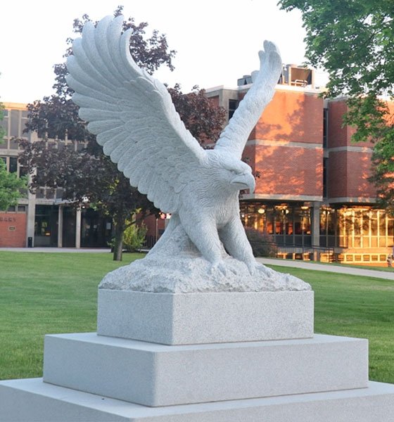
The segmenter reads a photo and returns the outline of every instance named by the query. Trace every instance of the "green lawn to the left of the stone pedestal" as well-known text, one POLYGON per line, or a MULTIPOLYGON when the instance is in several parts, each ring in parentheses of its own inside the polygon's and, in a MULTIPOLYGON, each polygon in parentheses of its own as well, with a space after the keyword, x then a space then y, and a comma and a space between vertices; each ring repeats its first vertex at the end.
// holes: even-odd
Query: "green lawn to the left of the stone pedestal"
POLYGON ((143 256, 0 252, 0 379, 41 376, 45 334, 96 331, 98 283, 143 256))

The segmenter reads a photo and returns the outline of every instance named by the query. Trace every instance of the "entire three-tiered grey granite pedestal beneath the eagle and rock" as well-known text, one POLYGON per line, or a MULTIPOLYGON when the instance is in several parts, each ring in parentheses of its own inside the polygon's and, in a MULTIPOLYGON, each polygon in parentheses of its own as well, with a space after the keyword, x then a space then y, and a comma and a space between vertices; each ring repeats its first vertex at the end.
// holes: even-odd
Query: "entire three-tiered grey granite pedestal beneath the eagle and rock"
POLYGON ((98 333, 46 335, 44 378, 0 383, 0 421, 393 421, 367 340, 312 331, 310 291, 103 290, 98 333))

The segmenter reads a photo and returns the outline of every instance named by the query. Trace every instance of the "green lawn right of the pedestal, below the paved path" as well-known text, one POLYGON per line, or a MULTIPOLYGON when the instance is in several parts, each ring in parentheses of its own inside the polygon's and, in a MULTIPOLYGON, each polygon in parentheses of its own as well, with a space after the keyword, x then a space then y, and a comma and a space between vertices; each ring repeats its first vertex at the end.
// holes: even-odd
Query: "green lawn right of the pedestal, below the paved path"
POLYGON ((369 378, 394 383, 394 281, 272 266, 310 283, 314 331, 369 340, 369 378))

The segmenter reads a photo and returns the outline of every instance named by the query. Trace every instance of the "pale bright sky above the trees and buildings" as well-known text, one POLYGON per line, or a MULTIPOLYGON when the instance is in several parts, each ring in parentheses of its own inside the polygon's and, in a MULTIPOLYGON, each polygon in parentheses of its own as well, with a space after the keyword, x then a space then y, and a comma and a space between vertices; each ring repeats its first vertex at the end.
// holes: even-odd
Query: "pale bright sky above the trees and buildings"
MULTIPOLYGON (((63 63, 72 22, 111 15, 117 5, 147 34, 166 34, 176 50, 175 70, 154 77, 182 91, 194 85, 236 87, 236 80, 258 69, 258 51, 274 41, 284 63, 305 61, 305 30, 298 11, 280 11, 277 0, 19 0, 1 4, 0 101, 32 103, 53 94, 53 65, 63 63)), ((317 73, 317 84, 324 74, 317 73)))

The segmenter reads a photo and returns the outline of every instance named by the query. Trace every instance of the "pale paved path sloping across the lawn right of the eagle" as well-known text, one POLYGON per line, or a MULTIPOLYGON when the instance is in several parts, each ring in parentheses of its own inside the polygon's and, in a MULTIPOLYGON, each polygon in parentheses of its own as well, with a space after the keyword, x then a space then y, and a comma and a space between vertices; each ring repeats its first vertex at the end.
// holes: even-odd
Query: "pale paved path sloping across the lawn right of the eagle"
POLYGON ((353 276, 367 276, 375 277, 376 279, 394 280, 394 268, 393 272, 379 271, 375 269, 364 269, 355 267, 344 267, 342 265, 335 264, 314 264, 312 262, 305 261, 293 261, 293 260, 274 260, 272 258, 257 258, 262 264, 269 265, 280 265, 281 267, 295 267, 303 269, 314 269, 317 271, 336 272, 341 274, 351 274, 353 276))

